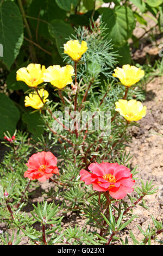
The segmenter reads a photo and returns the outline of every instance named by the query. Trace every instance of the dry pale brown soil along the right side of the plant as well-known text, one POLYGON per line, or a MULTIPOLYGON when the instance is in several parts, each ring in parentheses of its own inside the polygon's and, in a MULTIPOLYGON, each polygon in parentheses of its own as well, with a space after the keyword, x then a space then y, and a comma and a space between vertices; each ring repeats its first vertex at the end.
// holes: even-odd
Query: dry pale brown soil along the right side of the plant
MULTIPOLYGON (((131 167, 137 166, 139 174, 136 176, 141 178, 143 182, 153 180, 153 188, 158 187, 155 194, 145 197, 146 205, 149 210, 137 205, 134 208, 134 214, 139 216, 128 225, 122 234, 123 240, 128 236, 131 230, 136 239, 140 241, 143 235, 140 234, 136 224, 141 225, 143 230, 146 230, 149 223, 152 224, 151 215, 159 222, 163 221, 163 78, 156 77, 153 82, 147 85, 147 98, 143 105, 147 106, 146 117, 142 118, 139 123, 140 127, 133 126, 131 129, 133 140, 127 147, 127 152, 133 155, 130 160, 131 167)), ((136 185, 139 186, 139 180, 136 180, 136 185)), ((163 235, 158 236, 163 239, 163 235)), ((129 239, 129 244, 133 241, 129 239)), ((152 245, 157 245, 152 241, 152 245)))

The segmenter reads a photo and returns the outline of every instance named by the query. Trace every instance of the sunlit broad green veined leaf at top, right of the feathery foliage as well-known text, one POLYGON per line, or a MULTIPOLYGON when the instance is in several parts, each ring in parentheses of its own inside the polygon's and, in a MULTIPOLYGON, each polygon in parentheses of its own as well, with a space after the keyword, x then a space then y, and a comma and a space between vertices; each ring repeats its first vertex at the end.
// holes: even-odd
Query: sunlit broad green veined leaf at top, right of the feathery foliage
POLYGON ((116 6, 114 9, 99 8, 102 20, 108 28, 108 39, 115 47, 122 47, 133 33, 135 17, 133 11, 126 6, 116 6))

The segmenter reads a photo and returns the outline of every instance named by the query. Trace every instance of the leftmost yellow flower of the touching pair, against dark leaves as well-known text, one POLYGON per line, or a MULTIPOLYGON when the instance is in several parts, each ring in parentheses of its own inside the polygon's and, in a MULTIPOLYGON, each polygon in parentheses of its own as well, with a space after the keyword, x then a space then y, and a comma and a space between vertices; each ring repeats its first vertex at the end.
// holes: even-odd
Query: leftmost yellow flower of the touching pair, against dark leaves
POLYGON ((40 64, 30 63, 27 68, 20 68, 16 72, 16 80, 23 81, 29 87, 37 87, 38 84, 43 82, 43 72, 45 66, 40 64))

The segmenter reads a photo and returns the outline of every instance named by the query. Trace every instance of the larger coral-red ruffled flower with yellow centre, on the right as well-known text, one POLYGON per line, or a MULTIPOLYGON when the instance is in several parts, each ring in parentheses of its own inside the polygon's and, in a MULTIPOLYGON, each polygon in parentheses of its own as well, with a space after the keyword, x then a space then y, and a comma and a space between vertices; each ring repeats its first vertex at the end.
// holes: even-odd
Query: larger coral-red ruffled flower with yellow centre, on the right
POLYGON ((92 184, 93 190, 109 191, 111 197, 122 199, 134 190, 135 180, 130 169, 118 163, 91 163, 87 170, 80 170, 80 180, 86 185, 92 184))

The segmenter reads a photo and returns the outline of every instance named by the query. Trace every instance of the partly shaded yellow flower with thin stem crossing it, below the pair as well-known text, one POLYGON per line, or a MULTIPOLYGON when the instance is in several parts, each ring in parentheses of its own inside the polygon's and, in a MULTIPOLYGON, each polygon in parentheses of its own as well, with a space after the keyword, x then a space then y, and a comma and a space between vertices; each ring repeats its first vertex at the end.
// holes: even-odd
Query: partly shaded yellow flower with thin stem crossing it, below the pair
POLYGON ((40 99, 39 95, 36 92, 30 93, 29 96, 25 97, 26 107, 33 107, 35 109, 40 109, 43 107, 43 103, 48 101, 47 97, 49 94, 47 90, 44 90, 44 89, 38 90, 38 93, 42 100, 40 99))

